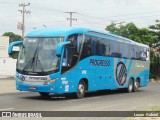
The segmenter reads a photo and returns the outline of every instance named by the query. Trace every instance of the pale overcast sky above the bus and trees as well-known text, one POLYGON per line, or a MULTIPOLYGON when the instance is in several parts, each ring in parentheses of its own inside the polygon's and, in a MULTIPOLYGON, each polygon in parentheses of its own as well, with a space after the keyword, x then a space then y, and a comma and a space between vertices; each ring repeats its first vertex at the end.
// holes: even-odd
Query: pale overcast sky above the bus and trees
POLYGON ((33 28, 69 26, 66 20, 69 14, 77 22, 73 26, 92 27, 104 30, 112 21, 119 23, 134 22, 138 27, 147 27, 160 20, 160 0, 0 0, 0 36, 4 32, 14 32, 21 35, 17 29, 22 15, 18 10, 20 3, 30 3, 26 10, 26 32, 33 28))

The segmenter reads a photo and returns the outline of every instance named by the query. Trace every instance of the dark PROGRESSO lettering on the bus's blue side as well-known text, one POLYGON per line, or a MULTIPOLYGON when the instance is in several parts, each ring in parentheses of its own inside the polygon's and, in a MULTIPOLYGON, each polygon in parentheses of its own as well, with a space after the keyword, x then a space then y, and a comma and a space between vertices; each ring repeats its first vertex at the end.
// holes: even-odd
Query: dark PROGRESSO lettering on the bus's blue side
POLYGON ((90 59, 89 64, 93 65, 93 66, 110 66, 110 61, 109 60, 90 59))

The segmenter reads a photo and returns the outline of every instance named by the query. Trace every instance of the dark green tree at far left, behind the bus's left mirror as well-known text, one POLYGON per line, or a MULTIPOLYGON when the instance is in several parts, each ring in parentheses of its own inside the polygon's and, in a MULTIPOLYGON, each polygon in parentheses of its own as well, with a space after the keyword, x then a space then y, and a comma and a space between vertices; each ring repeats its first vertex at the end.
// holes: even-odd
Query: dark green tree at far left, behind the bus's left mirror
MULTIPOLYGON (((9 36, 9 43, 17 40, 22 40, 22 37, 20 35, 14 34, 13 32, 5 32, 2 36, 9 36)), ((12 55, 10 55, 13 59, 18 58, 18 52, 13 52, 12 55)))

